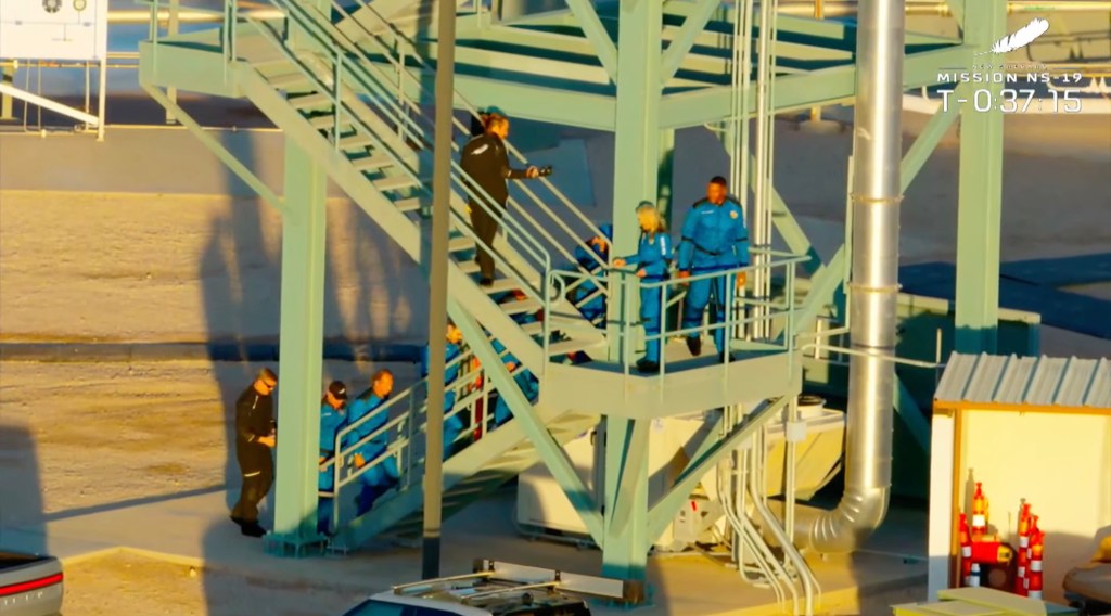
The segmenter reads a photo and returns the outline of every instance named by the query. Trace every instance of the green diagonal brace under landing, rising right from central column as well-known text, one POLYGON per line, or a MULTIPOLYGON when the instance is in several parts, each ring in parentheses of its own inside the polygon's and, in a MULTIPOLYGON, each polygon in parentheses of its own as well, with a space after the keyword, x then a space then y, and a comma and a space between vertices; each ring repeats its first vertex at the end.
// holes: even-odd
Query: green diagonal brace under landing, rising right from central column
POLYGON ((668 527, 668 524, 671 523, 683 501, 690 496, 694 486, 710 471, 710 467, 717 464, 722 455, 733 451, 744 440, 751 437, 764 422, 778 416, 779 412, 792 400, 794 400, 794 395, 788 394, 774 402, 770 402, 762 408, 747 415, 744 421, 733 427, 732 432, 724 437, 719 438, 708 447, 705 446, 707 443, 703 443, 702 446, 705 448, 701 452, 701 455, 695 455, 691 458, 690 464, 687 465, 687 468, 675 479, 675 485, 649 509, 648 536, 652 537, 652 541, 659 537, 668 527))

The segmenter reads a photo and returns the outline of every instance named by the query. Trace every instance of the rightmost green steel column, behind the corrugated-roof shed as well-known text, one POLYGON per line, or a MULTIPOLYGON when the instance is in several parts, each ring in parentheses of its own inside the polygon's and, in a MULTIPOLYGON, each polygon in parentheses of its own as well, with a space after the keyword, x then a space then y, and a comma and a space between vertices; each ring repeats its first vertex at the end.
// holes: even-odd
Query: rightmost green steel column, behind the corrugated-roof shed
MULTIPOLYGON (((987 51, 1007 33, 1004 2, 968 2, 964 41, 987 51)), ((1003 71, 1003 57, 975 57, 1003 71)), ((981 70, 978 67, 978 70, 981 70)), ((955 351, 993 353, 999 330, 999 235, 1002 219, 1003 113, 998 104, 978 111, 977 97, 1000 100, 1001 83, 978 83, 961 108, 960 180, 957 213, 955 351)), ((952 98, 952 97, 950 97, 952 98)), ((981 109, 984 105, 980 104, 981 109)))

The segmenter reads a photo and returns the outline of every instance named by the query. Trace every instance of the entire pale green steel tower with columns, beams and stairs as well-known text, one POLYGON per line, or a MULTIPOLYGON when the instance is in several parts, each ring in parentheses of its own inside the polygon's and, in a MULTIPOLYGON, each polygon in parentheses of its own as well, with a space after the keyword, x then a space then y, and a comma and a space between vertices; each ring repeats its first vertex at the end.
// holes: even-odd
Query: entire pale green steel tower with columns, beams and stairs
MULTIPOLYGON (((153 18, 151 38, 140 44, 140 79, 151 97, 282 215, 282 442, 274 539, 294 552, 321 542, 354 548, 373 536, 420 531, 428 384, 396 394, 379 411, 381 425, 361 440, 358 426, 346 428, 340 464, 317 466, 326 185, 330 180, 340 186, 429 270, 430 109, 441 51, 436 11, 402 0, 266 3, 286 17, 258 19, 227 0, 218 27, 172 36, 162 34, 153 18), (170 89, 249 99, 279 127, 287 138, 282 194, 208 135, 168 95, 170 89), (383 453, 361 468, 351 467, 352 447, 376 438, 388 441, 383 453), (353 441, 359 443, 351 445, 353 441), (346 511, 346 497, 333 498, 338 534, 319 535, 319 473, 337 478, 336 493, 326 496, 342 496, 387 458, 399 465, 397 488, 361 516, 346 511)), ((905 32, 898 71, 902 90, 932 85, 941 72, 971 67, 973 54, 1004 33, 1003 0, 949 0, 948 8, 963 39, 905 32)), ((152 16, 159 10, 156 0, 152 16)), ((840 299, 852 246, 842 246, 829 262, 818 257, 774 190, 770 129, 777 114, 853 102, 858 27, 851 20, 778 14, 774 2, 754 6, 752 0, 567 0, 552 6, 502 0, 460 8, 456 31, 457 109, 473 113, 497 104, 514 119, 614 134, 611 220, 617 254, 634 251, 635 203, 650 199, 663 209, 670 205, 678 129, 719 130, 737 168, 734 181, 752 189, 751 198, 748 190, 738 191, 751 212, 757 254, 749 276, 752 293, 735 300, 748 304, 742 313, 748 316, 731 311, 733 316, 721 324, 734 359, 690 359, 681 344, 667 345, 661 374, 642 376, 631 370, 641 343, 635 279, 613 272, 603 280, 597 269, 574 265, 573 250, 583 236, 600 234, 595 222, 547 180, 522 184, 510 200, 504 238, 490 246, 503 277, 482 287, 471 260, 478 240, 467 202, 473 199, 488 208, 488 195, 463 182, 458 156, 451 169, 448 313, 468 351, 457 360, 466 383, 461 377, 451 385, 458 395, 448 415, 467 413, 477 401, 489 403, 497 391, 512 420, 497 430, 489 417, 482 420, 482 437, 469 446, 457 444, 446 457, 444 515, 543 461, 602 548, 603 573, 642 583, 652 541, 705 471, 763 422, 793 408, 803 366, 797 336, 812 333, 827 314, 852 325, 845 323, 840 299), (754 152, 748 149, 749 120, 757 120, 751 129, 754 152), (771 250, 773 236, 785 242, 789 254, 771 250), (797 271, 809 281, 798 289, 797 271), (581 304, 567 299, 569 291, 588 284, 608 301, 605 323, 591 322, 581 304), (499 297, 513 291, 513 301, 499 297), (579 353, 594 361, 565 361, 579 353), (506 361, 508 354, 512 361, 506 361), (530 395, 526 371, 536 378, 539 396, 530 395), (723 410, 717 428, 670 491, 650 498, 644 461, 651 421, 710 410, 723 410), (601 421, 605 481, 595 494, 561 445, 601 421)), ((1001 113, 978 113, 968 104, 939 112, 902 156, 899 189, 907 189, 958 115, 958 344, 963 352, 991 351, 998 320, 1001 113)), ((460 142, 468 127, 457 120, 453 130, 460 142)), ((523 164, 511 145, 510 154, 523 164)), ((677 293, 665 293, 664 302, 680 301, 677 293)), ((897 401, 903 401, 899 413, 923 444, 924 415, 905 397, 897 392, 897 401)), ((490 415, 489 404, 487 411, 490 415)), ((779 525, 782 534, 792 526, 792 515, 785 517, 783 524, 767 523, 779 525)), ((790 556, 783 566, 793 566, 801 576, 798 569, 804 564, 790 556)), ((637 592, 631 596, 640 597, 637 592)))

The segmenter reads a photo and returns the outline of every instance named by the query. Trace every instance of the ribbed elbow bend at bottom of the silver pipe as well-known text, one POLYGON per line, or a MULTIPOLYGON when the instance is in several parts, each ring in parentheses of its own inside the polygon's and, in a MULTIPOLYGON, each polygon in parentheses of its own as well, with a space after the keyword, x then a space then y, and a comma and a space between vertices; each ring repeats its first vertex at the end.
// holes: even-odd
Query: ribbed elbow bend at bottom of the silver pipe
POLYGON ((887 517, 888 493, 888 487, 847 491, 835 509, 810 524, 808 547, 823 554, 859 549, 887 517))

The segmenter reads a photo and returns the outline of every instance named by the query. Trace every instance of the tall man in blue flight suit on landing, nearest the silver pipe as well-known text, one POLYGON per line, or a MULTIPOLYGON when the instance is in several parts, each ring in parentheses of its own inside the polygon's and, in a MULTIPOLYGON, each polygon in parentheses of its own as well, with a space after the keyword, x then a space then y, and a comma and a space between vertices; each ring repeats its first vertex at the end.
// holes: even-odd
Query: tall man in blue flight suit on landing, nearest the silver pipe
MULTIPOLYGON (((729 184, 717 175, 710 180, 705 199, 694 204, 683 221, 682 240, 679 243, 679 277, 689 277, 710 272, 734 270, 749 264, 749 231, 744 226, 744 210, 729 196, 729 184)), ((727 290, 733 276, 715 276, 690 283, 683 309, 683 329, 697 327, 702 323, 707 304, 713 302, 711 321, 724 323, 727 290)), ((744 272, 737 276, 737 285, 744 284, 744 272)), ((713 332, 718 345, 718 356, 725 357, 725 330, 713 332)), ((702 354, 702 339, 698 333, 687 337, 687 349, 691 355, 702 354)))

